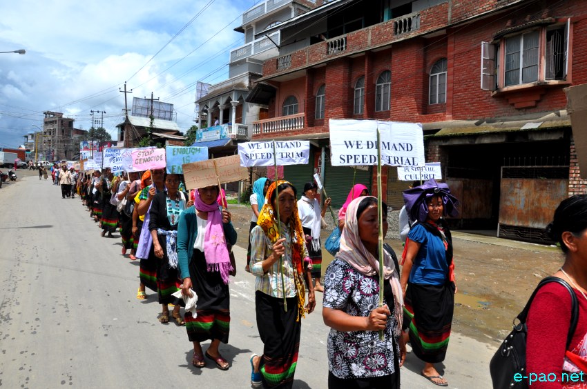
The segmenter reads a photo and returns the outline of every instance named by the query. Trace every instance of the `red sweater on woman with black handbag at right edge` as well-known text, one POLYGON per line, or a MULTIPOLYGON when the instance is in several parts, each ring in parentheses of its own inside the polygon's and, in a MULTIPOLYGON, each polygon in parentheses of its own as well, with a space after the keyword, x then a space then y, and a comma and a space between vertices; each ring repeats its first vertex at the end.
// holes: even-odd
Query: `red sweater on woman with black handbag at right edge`
MULTIPOLYGON (((578 352, 587 341, 587 300, 575 290, 579 301, 579 321, 569 350, 578 352)), ((540 288, 528 313, 528 340, 526 344, 526 371, 548 377, 554 373, 555 382, 532 382, 532 389, 563 388, 561 379, 566 352, 566 338, 570 326, 570 295, 564 286, 548 283, 540 288)), ((587 358, 584 355, 583 358, 587 358)), ((553 377, 552 375, 550 376, 553 377)), ((587 388, 587 372, 583 382, 568 383, 568 388, 587 388), (571 386, 575 385, 575 386, 571 386)))

